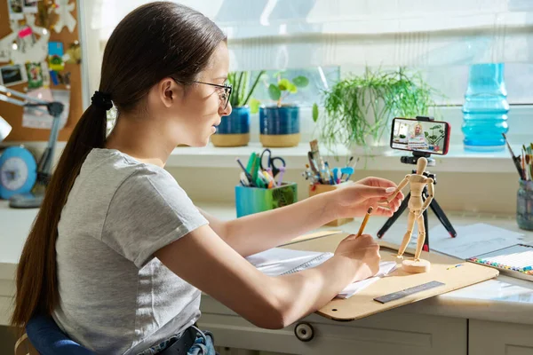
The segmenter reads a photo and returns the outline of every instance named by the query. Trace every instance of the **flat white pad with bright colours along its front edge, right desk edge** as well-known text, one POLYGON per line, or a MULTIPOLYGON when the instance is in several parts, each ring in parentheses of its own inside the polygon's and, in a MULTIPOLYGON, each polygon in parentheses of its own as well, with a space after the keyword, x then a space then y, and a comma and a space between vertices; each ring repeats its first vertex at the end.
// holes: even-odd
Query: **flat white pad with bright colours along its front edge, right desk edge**
POLYGON ((533 280, 533 246, 515 244, 489 253, 473 256, 466 261, 498 269, 501 273, 524 280, 533 280))

